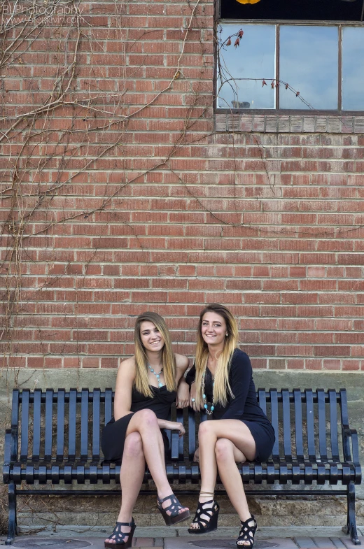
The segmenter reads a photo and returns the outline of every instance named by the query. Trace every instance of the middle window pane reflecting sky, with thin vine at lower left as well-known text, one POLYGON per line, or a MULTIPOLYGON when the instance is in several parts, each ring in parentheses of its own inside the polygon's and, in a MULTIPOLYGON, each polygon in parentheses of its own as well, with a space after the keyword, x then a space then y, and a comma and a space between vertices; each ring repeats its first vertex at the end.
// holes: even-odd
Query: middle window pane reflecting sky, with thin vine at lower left
POLYGON ((298 97, 281 84, 280 108, 337 109, 338 28, 281 26, 279 79, 300 92, 298 97))

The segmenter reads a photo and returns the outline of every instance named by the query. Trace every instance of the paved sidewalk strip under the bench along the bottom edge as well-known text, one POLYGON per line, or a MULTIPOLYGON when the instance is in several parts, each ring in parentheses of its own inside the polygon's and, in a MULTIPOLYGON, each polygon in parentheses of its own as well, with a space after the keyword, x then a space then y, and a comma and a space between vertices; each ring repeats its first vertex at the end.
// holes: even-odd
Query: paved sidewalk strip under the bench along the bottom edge
MULTIPOLYGON (((13 547, 17 549, 104 549, 104 539, 110 528, 58 527, 24 528, 13 547)), ((233 549, 236 548, 237 528, 219 528, 216 532, 190 536, 187 527, 137 528, 133 547, 142 549, 233 549)), ((364 527, 358 527, 364 549, 364 527)), ((1 536, 0 545, 5 543, 1 536)), ((255 535, 254 549, 353 549, 348 536, 333 527, 261 527, 255 535)))

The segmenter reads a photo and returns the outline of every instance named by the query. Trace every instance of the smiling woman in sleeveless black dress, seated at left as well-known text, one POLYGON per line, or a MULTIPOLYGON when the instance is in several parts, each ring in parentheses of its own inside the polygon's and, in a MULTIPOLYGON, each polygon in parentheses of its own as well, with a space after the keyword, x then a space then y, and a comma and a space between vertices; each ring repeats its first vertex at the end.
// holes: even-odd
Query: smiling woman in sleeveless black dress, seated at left
POLYGON ((116 527, 105 541, 108 549, 132 546, 135 529, 132 511, 146 464, 157 487, 158 510, 166 525, 174 525, 190 516, 190 511, 179 503, 167 480, 165 450, 169 443, 164 431, 176 429, 180 436, 185 432, 181 423, 167 418, 174 401, 179 408, 188 406, 188 385, 183 378, 188 358, 172 351, 165 321, 156 313, 139 315, 134 345, 134 356, 120 364, 113 418, 102 433, 105 459, 121 460, 121 508, 116 527))

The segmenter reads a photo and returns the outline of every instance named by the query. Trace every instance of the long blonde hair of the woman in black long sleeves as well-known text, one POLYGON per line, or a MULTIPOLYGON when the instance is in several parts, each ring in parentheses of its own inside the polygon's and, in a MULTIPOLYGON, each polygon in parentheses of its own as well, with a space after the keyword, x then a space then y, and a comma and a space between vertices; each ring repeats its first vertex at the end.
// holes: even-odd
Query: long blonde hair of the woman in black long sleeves
POLYGON ((207 305, 200 314, 200 320, 197 331, 197 348, 196 348, 196 405, 197 408, 202 406, 202 379, 204 378, 207 369, 207 359, 209 357, 209 348, 207 343, 202 337, 202 320, 206 313, 216 313, 220 315, 226 323, 226 331, 228 335, 225 337, 224 348, 221 355, 218 357, 218 363, 216 365, 215 379, 214 379, 214 402, 219 402, 222 406, 226 406, 228 403, 228 393, 232 398, 230 383, 229 383, 229 370, 232 359, 232 354, 237 348, 239 332, 237 328, 237 321, 230 313, 229 309, 218 303, 207 305))

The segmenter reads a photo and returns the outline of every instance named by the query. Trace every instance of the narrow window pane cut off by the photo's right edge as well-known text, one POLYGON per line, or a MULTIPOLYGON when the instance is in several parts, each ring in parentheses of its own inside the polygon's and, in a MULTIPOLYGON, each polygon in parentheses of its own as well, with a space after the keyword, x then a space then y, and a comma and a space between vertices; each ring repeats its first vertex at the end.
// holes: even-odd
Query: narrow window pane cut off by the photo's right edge
POLYGON ((342 108, 364 110, 364 28, 342 32, 342 108))

